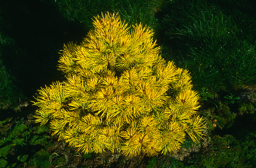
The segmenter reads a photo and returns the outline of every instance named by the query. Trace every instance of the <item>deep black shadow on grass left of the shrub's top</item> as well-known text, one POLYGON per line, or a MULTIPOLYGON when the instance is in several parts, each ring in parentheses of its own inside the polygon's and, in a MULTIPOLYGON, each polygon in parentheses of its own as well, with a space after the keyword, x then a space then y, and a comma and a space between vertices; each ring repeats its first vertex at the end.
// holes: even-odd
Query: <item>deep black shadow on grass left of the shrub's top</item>
POLYGON ((17 87, 31 97, 37 89, 61 80, 56 65, 64 43, 80 43, 86 25, 66 20, 51 1, 1 2, 0 31, 14 42, 1 44, 4 65, 17 87))

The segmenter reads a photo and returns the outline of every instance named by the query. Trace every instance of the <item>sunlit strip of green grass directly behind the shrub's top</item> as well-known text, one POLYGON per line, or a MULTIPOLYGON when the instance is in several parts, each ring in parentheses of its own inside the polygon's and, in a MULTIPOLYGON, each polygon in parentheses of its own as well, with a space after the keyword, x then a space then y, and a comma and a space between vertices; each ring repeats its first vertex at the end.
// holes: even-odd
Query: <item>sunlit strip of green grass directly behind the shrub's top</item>
POLYGON ((81 22, 86 27, 92 28, 92 18, 103 14, 106 11, 119 12, 120 18, 135 25, 142 23, 154 27, 156 18, 154 13, 160 7, 162 0, 56 0, 56 4, 60 7, 60 11, 71 21, 81 22))

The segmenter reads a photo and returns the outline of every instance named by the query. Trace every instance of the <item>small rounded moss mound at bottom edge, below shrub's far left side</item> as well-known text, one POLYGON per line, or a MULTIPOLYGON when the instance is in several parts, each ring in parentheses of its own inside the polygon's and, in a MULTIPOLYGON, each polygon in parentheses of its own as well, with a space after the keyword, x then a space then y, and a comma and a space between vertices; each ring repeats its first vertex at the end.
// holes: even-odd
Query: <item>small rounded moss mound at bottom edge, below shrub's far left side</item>
POLYGON ((33 159, 36 166, 38 166, 40 168, 51 167, 51 163, 49 160, 50 160, 50 155, 44 149, 41 149, 38 152, 36 152, 36 154, 34 155, 34 159, 33 159))

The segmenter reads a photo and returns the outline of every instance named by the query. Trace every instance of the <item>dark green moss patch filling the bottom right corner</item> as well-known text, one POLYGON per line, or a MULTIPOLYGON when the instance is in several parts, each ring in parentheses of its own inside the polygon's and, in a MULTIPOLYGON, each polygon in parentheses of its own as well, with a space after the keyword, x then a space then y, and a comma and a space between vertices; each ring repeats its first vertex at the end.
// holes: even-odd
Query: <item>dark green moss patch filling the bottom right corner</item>
POLYGON ((211 148, 203 155, 198 155, 195 167, 239 167, 254 168, 256 165, 256 132, 244 139, 236 140, 231 135, 214 135, 211 148))

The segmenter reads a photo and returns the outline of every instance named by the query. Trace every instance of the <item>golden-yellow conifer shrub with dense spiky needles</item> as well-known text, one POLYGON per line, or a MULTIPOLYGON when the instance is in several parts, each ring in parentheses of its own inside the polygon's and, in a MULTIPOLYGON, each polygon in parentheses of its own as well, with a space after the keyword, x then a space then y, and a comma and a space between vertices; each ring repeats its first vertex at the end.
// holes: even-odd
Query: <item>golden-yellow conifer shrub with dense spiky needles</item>
POLYGON ((93 25, 80 45, 64 45, 66 80, 38 90, 36 122, 85 153, 154 156, 175 152, 186 135, 197 141, 204 124, 191 77, 161 58, 152 30, 129 32, 108 12, 93 25))

